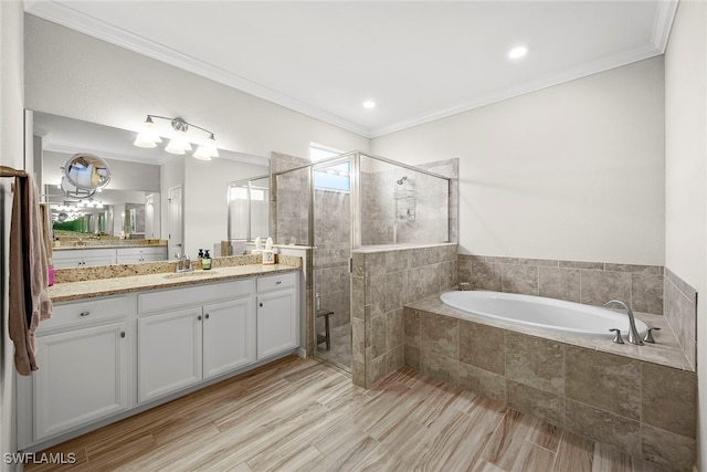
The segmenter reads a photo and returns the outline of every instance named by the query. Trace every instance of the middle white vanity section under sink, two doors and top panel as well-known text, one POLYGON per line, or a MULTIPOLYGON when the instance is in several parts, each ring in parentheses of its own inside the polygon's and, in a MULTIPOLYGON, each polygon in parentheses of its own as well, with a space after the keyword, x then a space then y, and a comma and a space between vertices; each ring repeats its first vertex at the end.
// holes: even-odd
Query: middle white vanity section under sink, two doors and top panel
POLYGON ((138 295, 138 402, 255 361, 254 292, 242 280, 138 295))

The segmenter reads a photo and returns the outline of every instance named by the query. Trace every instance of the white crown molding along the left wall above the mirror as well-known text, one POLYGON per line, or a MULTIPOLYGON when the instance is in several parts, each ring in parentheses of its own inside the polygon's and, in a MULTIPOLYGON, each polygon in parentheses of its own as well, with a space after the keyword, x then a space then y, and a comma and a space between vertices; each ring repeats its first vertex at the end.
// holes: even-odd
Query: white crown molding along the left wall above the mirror
POLYGON ((191 72, 204 78, 228 85, 250 95, 289 108, 294 112, 338 126, 357 135, 370 137, 370 129, 340 116, 300 102, 289 95, 251 82, 240 75, 224 71, 204 61, 182 54, 129 31, 105 23, 91 15, 54 1, 25 0, 24 11, 53 23, 61 24, 128 51, 155 59, 175 67, 191 72))

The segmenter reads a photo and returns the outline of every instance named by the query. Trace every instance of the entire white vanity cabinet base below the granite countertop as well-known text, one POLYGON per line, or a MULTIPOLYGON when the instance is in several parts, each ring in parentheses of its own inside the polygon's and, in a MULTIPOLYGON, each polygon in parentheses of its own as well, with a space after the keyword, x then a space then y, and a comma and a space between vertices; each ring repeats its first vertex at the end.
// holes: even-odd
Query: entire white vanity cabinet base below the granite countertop
MULTIPOLYGON (((199 275, 184 275, 199 276, 199 275)), ((18 445, 64 441, 291 354, 299 272, 55 303, 17 376, 18 445)))

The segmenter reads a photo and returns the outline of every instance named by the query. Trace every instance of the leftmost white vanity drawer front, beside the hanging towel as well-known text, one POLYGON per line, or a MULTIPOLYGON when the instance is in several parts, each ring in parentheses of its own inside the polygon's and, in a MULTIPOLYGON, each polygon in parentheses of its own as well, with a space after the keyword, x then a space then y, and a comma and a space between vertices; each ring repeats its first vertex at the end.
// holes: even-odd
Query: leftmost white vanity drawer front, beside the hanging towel
POLYGON ((127 296, 95 298, 54 305, 52 317, 40 323, 38 334, 46 329, 126 316, 127 296))

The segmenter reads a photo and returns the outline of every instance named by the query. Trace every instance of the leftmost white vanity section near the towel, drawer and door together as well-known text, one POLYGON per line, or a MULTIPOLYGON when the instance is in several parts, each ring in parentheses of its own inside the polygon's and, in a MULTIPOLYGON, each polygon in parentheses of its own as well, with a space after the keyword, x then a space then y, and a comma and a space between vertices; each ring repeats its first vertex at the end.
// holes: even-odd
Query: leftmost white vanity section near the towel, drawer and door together
POLYGON ((40 325, 40 368, 31 378, 33 424, 24 434, 32 442, 130 407, 127 310, 125 296, 57 304, 40 325))

